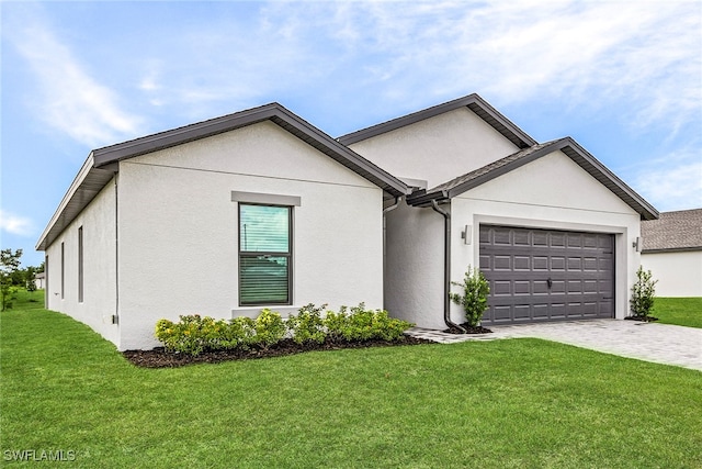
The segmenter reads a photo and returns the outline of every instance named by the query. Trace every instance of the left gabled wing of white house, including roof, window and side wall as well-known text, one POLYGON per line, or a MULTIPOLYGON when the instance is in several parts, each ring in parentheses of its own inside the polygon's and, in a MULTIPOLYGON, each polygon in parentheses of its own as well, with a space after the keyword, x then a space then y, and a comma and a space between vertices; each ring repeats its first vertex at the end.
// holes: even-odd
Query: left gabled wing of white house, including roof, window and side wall
POLYGON ((407 186, 273 103, 93 150, 42 234, 46 306, 118 349, 180 314, 383 306, 407 186))

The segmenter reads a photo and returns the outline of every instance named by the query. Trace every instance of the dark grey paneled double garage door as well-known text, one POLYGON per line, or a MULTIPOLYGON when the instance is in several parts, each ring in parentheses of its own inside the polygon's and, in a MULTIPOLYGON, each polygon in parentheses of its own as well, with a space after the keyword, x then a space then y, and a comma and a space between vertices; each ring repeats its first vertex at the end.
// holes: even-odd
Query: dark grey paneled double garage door
POLYGON ((480 225, 483 324, 613 317, 611 234, 480 225))

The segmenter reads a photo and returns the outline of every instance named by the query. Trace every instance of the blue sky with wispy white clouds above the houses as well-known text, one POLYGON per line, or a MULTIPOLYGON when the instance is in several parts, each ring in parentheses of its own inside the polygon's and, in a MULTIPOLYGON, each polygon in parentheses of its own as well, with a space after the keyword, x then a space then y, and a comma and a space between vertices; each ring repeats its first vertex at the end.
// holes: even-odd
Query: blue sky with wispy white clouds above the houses
POLYGON ((479 93, 660 211, 702 206, 702 2, 1 1, 3 248, 92 148, 278 101, 331 136, 479 93))

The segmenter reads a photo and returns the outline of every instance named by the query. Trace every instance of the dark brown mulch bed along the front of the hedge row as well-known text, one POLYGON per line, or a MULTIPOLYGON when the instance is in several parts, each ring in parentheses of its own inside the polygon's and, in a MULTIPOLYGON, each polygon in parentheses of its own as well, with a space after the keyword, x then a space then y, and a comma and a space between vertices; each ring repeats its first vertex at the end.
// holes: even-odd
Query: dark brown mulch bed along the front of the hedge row
POLYGON ((205 350, 193 357, 188 354, 167 351, 163 347, 152 350, 126 350, 122 355, 143 368, 177 368, 193 364, 219 364, 230 360, 248 360, 254 358, 283 357, 286 355, 301 354, 313 350, 340 350, 343 348, 367 348, 367 347, 395 347, 400 345, 433 344, 432 340, 423 338, 404 336, 397 342, 387 340, 364 340, 364 342, 333 342, 326 340, 322 344, 297 345, 292 339, 284 339, 267 349, 251 348, 249 350, 205 350))

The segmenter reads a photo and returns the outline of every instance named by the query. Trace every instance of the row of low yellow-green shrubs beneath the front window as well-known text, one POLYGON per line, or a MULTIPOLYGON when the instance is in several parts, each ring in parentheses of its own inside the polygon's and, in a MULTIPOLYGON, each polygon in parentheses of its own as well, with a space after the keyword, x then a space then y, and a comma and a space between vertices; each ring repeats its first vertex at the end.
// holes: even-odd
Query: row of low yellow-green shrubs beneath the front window
POLYGON ((268 348, 286 337, 301 345, 325 340, 394 342, 412 325, 389 317, 387 311, 366 310, 363 303, 351 309, 341 306, 339 312, 326 311, 326 304, 310 303, 286 321, 269 309, 262 310, 256 320, 240 316, 226 321, 199 314, 182 315, 177 323, 160 320, 156 324, 156 338, 167 350, 199 355, 203 350, 268 348))

